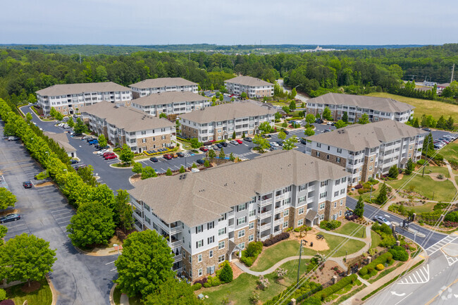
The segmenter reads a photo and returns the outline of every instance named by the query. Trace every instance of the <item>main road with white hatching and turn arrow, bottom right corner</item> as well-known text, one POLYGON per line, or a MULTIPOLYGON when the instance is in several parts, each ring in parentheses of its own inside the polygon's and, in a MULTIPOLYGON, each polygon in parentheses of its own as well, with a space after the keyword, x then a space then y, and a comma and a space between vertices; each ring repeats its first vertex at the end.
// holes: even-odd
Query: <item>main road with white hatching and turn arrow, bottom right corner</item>
MULTIPOLYGON (((366 304, 458 304, 458 258, 447 255, 446 249, 450 247, 458 250, 458 239, 442 248, 445 251, 436 251, 428 263, 398 278, 366 304)), ((405 270, 411 267, 406 265, 402 266, 405 270)))

